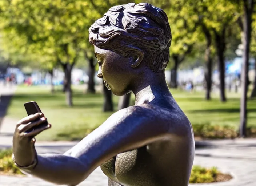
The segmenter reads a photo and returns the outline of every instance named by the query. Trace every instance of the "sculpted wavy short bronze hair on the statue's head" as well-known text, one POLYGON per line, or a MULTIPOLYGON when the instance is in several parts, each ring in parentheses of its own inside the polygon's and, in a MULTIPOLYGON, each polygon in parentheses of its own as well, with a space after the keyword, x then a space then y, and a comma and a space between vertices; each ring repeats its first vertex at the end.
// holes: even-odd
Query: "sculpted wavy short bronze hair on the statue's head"
POLYGON ((154 72, 164 72, 171 39, 167 15, 148 3, 112 7, 89 28, 90 43, 124 57, 142 52, 154 72))

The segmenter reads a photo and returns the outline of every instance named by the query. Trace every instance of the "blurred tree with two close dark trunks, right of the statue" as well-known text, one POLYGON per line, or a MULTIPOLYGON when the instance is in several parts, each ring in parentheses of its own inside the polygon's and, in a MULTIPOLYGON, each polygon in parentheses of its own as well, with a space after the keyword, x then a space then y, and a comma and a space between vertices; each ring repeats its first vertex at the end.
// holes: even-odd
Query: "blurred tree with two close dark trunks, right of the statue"
POLYGON ((220 74, 220 97, 221 101, 226 101, 225 97, 225 57, 226 37, 229 27, 237 20, 235 15, 235 6, 226 0, 179 0, 182 17, 189 17, 187 20, 192 25, 197 26, 196 43, 205 42, 205 80, 206 80, 206 99, 210 99, 211 76, 212 76, 212 58, 217 54, 218 67, 220 74), (204 39, 201 38, 204 35, 204 39), (214 47, 213 47, 214 46, 214 47))

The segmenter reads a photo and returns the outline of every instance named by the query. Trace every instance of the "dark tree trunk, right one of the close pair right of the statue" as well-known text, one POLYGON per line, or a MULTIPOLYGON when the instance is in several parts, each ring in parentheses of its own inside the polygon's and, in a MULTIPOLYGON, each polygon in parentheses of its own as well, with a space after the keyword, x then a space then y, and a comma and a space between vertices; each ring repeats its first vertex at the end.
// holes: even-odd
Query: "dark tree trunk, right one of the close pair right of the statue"
POLYGON ((215 31, 215 43, 217 48, 217 57, 218 57, 218 68, 219 68, 219 78, 220 78, 220 100, 222 102, 227 101, 225 95, 225 28, 222 29, 221 33, 215 31))

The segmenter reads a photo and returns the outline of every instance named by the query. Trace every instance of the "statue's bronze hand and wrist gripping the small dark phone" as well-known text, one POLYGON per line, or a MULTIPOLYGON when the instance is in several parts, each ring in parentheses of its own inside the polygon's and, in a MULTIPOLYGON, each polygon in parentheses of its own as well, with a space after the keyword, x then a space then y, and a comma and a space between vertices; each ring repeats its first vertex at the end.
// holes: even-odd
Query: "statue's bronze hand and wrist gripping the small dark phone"
POLYGON ((42 113, 29 115, 20 120, 13 134, 13 156, 15 163, 26 167, 33 163, 36 158, 35 136, 49 129, 47 118, 42 113))

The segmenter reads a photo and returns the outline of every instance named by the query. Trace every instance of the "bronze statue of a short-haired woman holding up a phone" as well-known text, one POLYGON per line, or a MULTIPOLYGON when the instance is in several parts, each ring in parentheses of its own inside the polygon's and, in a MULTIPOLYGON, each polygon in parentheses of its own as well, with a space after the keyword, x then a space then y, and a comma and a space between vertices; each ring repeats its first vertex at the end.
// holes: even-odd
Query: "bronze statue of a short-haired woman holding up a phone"
POLYGON ((13 136, 16 165, 69 186, 98 166, 109 186, 187 186, 195 142, 192 126, 165 81, 171 45, 165 12, 147 3, 112 7, 91 26, 89 41, 99 78, 115 95, 132 91, 135 106, 114 113, 64 154, 37 154, 34 137, 51 126, 27 132, 46 118, 42 113, 25 117, 13 136))

